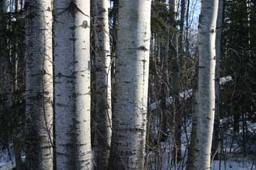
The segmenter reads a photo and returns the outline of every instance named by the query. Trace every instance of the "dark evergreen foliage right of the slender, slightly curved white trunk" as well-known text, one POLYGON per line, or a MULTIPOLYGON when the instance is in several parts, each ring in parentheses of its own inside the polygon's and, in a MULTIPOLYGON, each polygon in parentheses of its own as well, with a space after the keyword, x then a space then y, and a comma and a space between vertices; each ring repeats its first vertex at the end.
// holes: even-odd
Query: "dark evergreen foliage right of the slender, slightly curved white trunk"
POLYGON ((221 91, 220 116, 233 117, 234 137, 244 155, 249 154, 246 146, 251 138, 247 121, 256 111, 255 12, 255 0, 250 8, 245 0, 225 1, 220 77, 230 75, 233 81, 221 91))

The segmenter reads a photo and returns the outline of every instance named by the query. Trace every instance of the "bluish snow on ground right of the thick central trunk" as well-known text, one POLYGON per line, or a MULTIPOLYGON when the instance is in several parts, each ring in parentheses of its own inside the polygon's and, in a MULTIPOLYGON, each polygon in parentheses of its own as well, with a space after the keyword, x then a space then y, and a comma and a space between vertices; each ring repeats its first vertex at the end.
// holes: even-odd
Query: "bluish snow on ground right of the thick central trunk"
MULTIPOLYGON (((220 124, 227 123, 226 121, 233 121, 233 118, 225 118, 225 120, 220 120, 220 124)), ((230 124, 230 123, 228 123, 230 124)), ((158 125, 159 125, 159 120, 157 116, 154 116, 154 138, 156 139, 157 134, 158 134, 158 125)), ((188 139, 191 135, 191 129, 192 129, 192 123, 191 119, 188 119, 186 121, 186 125, 183 125, 183 131, 182 131, 182 145, 181 145, 181 152, 182 152, 182 157, 184 158, 183 162, 178 164, 176 170, 186 170, 186 157, 188 154, 187 150, 187 144, 188 144, 188 139)), ((250 121, 247 121, 247 130, 252 132, 252 134, 255 134, 256 132, 256 123, 252 123, 250 121)), ((242 132, 241 132, 242 133, 242 132)), ((253 155, 248 155, 247 157, 243 158, 242 157, 242 149, 238 145, 237 140, 233 140, 233 128, 232 128, 232 123, 228 127, 228 130, 225 134, 227 136, 226 140, 224 140, 224 146, 223 146, 223 152, 226 154, 226 160, 216 160, 213 161, 212 163, 212 170, 256 170, 256 159, 255 156, 253 155), (255 159, 255 160, 253 160, 255 159)), ((174 170, 175 167, 172 166, 170 168, 171 164, 171 155, 170 155, 170 148, 173 147, 173 142, 172 142, 172 137, 169 135, 168 139, 166 142, 161 142, 160 143, 160 148, 156 151, 152 149, 148 153, 148 159, 149 159, 149 166, 153 170, 166 170, 166 169, 171 169, 174 170), (156 159, 156 155, 159 156, 159 159, 156 159), (161 163, 159 163, 161 162, 161 163)), ((252 149, 253 144, 249 146, 250 149, 252 149)), ((220 148, 219 152, 220 153, 220 148)))

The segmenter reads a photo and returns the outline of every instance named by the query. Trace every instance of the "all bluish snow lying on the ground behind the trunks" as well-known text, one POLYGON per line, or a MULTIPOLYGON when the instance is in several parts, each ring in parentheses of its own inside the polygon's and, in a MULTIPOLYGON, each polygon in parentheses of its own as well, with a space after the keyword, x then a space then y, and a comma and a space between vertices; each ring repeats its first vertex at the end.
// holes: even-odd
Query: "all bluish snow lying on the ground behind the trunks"
MULTIPOLYGON (((220 120, 220 123, 225 123, 226 121, 232 120, 232 117, 230 118, 225 118, 225 120, 220 120)), ((159 120, 157 120, 157 117, 154 117, 154 137, 157 136, 158 133, 158 123, 159 120)), ((248 125, 248 130, 250 132, 255 132, 256 131, 256 123, 252 123, 250 121, 247 121, 247 125, 248 125)), ((181 136, 181 140, 182 140, 182 146, 181 146, 181 152, 182 155, 184 157, 184 161, 181 162, 181 164, 178 164, 178 169, 176 170, 186 170, 186 156, 188 154, 188 150, 187 150, 187 143, 188 143, 188 139, 191 135, 191 128, 192 128, 192 123, 191 123, 191 119, 186 120, 186 125, 183 125, 182 128, 182 136, 181 136)), ((212 170, 256 170, 256 160, 253 161, 253 157, 255 159, 255 156, 250 155, 250 157, 245 157, 242 158, 242 154, 240 151, 240 147, 238 145, 237 141, 233 141, 232 143, 232 133, 233 133, 233 128, 230 126, 228 127, 228 137, 227 137, 227 141, 224 142, 224 148, 223 148, 223 152, 227 152, 227 159, 224 161, 222 160, 221 162, 219 160, 213 161, 212 164, 212 170)), ((172 137, 169 136, 168 139, 166 140, 166 142, 161 142, 160 143, 160 148, 157 152, 151 150, 148 153, 148 158, 149 158, 149 164, 151 169, 154 170, 174 170, 174 166, 172 166, 170 168, 170 164, 171 164, 171 160, 169 159, 169 157, 171 156, 169 152, 170 148, 173 147, 173 143, 172 142, 172 137), (161 169, 159 169, 159 165, 156 166, 157 160, 156 160, 156 154, 161 154, 161 160, 159 160, 161 162, 161 169), (156 168, 155 168, 156 166, 156 168)), ((250 146, 252 147, 252 146, 250 146)), ((12 153, 12 151, 10 151, 12 153)), ((22 157, 23 161, 25 159, 25 157, 22 157)), ((14 169, 15 167, 15 159, 14 159, 14 154, 9 154, 9 152, 7 152, 7 150, 1 150, 0 149, 0 170, 11 170, 14 169)))

